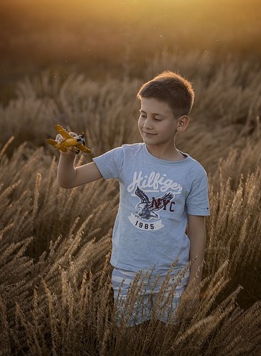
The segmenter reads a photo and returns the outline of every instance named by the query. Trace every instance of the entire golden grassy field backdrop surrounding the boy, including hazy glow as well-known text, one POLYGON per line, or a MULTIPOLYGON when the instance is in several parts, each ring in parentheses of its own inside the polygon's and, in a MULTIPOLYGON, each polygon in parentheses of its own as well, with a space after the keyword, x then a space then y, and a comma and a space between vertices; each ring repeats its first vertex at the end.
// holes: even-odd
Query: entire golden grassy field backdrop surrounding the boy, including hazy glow
MULTIPOLYGON (((257 1, 214 8, 192 0, 186 8, 183 1, 112 1, 110 11, 104 1, 59 3, 0 5, 9 14, 1 23, 0 355, 259 356, 257 1), (162 43, 156 34, 166 36, 162 43), (110 285, 118 184, 59 188, 58 152, 46 138, 55 136, 55 123, 85 132, 92 153, 79 155, 78 164, 139 141, 136 93, 162 70, 179 71, 196 91, 191 125, 177 146, 209 177, 201 304, 176 327, 162 330, 151 320, 128 330, 115 326, 110 285)), ((132 305, 137 290, 130 295, 132 305)))

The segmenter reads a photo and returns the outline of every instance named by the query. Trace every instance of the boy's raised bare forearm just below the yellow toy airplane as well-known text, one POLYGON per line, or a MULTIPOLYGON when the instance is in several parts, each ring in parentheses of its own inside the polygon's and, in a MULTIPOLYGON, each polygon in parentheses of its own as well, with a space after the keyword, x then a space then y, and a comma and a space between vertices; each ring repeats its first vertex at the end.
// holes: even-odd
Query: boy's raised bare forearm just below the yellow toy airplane
POLYGON ((58 163, 57 180, 62 188, 72 188, 76 176, 74 167, 75 155, 63 155, 60 153, 58 163))

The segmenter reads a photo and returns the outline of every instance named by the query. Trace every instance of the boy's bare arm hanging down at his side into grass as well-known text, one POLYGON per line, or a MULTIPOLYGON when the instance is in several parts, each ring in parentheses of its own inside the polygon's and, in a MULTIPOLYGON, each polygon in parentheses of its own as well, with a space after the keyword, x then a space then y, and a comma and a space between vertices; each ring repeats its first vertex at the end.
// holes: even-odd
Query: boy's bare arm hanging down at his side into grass
POLYGON ((186 303, 186 317, 192 318, 199 305, 198 286, 201 284, 206 247, 205 216, 188 215, 188 238, 191 244, 189 251, 191 268, 184 302, 186 303))

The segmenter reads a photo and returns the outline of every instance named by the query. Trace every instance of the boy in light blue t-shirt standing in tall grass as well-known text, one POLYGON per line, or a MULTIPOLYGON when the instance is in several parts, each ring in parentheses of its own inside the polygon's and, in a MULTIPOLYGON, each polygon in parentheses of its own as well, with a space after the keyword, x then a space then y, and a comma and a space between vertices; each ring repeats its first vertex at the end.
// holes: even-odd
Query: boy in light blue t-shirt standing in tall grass
MULTIPOLYGON (((166 293, 171 305, 156 318, 168 321, 169 310, 176 310, 187 285, 197 293, 205 251, 205 216, 209 215, 206 172, 175 145, 176 133, 186 130, 189 123, 194 100, 191 83, 167 71, 142 85, 137 98, 141 102, 138 128, 142 143, 122 145, 76 168, 75 154, 68 150, 60 152, 58 164, 58 183, 63 188, 102 177, 119 180, 120 201, 111 257, 112 286, 119 308, 124 310, 129 284, 137 272, 142 272, 145 281, 140 292, 142 303, 134 305, 129 326, 151 318, 155 299, 149 297, 148 281, 155 294, 177 259, 173 275, 190 261, 193 263, 171 301, 166 293), (151 275, 146 280, 147 271, 151 275)), ((175 283, 175 278, 171 281, 175 283)), ((191 305, 192 313, 198 300, 197 295, 191 305)))

